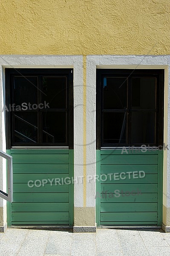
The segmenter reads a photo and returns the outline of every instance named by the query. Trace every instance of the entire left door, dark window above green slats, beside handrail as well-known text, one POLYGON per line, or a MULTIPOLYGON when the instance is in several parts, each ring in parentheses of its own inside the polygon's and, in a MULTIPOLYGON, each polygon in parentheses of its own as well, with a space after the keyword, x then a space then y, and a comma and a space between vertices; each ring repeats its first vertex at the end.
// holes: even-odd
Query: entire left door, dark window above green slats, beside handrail
POLYGON ((6 69, 9 226, 73 224, 72 108, 72 69, 6 69))

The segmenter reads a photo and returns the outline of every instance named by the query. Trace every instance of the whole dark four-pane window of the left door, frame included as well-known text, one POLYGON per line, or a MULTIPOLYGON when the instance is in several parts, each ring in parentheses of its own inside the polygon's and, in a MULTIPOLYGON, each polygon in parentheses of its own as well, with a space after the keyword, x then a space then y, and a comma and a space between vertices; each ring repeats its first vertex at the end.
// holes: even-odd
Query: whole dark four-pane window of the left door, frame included
POLYGON ((8 148, 72 147, 73 70, 10 68, 5 73, 8 148))

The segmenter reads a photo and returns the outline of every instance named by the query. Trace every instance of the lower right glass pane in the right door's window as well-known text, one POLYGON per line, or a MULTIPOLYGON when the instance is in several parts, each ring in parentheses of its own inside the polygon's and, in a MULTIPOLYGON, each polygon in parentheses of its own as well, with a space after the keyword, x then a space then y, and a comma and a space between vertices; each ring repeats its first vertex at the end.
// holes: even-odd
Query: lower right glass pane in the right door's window
POLYGON ((155 113, 132 112, 132 144, 155 143, 155 113))

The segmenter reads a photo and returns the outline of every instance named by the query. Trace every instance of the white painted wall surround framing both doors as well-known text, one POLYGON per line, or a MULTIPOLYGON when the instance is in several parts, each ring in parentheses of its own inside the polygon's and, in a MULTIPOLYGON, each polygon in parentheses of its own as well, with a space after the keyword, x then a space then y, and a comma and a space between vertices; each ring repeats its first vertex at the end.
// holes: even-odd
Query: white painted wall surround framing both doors
MULTIPOLYGON (((14 68, 74 68, 74 176, 83 176, 83 56, 80 55, 0 55, 0 69, 14 68)), ((164 143, 170 145, 170 56, 89 55, 86 56, 86 175, 95 175, 95 95, 96 68, 164 69, 165 110, 164 143), (167 111, 168 109, 168 111, 167 111)), ((2 72, 0 72, 0 108, 3 105, 2 72)), ((4 116, 0 111, 0 148, 5 145, 4 116)), ((5 163, 0 162, 0 177, 6 180, 5 163)), ((1 181, 0 181, 1 182, 1 181)), ((6 203, 4 203, 5 205, 6 203)), ((164 151, 164 205, 170 207, 170 151, 164 151), (166 161, 167 160, 167 161, 166 161)), ((83 183, 75 183, 74 206, 83 207, 83 183)), ((95 207, 95 183, 86 180, 86 207, 95 207)))

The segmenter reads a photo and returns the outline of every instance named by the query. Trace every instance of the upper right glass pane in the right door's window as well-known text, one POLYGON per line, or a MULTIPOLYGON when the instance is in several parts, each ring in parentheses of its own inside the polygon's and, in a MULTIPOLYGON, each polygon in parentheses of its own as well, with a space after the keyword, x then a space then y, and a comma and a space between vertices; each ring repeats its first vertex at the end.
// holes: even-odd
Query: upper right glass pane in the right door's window
POLYGON ((156 78, 132 79, 132 109, 155 109, 156 78))

